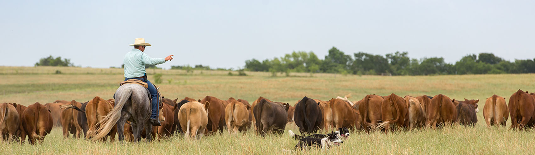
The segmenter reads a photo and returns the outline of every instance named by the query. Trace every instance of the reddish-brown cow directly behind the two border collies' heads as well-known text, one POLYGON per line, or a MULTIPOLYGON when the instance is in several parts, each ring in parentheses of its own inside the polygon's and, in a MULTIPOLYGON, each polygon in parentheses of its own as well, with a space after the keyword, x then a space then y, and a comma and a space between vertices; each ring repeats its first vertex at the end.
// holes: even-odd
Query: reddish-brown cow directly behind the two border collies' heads
MULTIPOLYGON (((350 130, 354 130, 356 126, 357 112, 351 107, 351 104, 340 100, 331 99, 327 103, 328 107, 332 111, 332 126, 335 128, 347 127, 350 130)), ((330 124, 325 123, 327 128, 330 124)))

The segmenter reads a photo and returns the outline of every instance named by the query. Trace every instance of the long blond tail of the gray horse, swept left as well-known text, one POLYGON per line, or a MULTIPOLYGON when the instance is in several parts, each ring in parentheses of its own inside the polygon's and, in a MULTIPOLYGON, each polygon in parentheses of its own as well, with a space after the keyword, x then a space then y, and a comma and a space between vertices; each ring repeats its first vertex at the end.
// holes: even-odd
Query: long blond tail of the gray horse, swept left
POLYGON ((98 126, 98 128, 95 130, 97 134, 93 136, 93 141, 100 140, 104 136, 108 135, 110 130, 117 124, 126 101, 130 99, 130 96, 132 96, 132 88, 128 87, 127 90, 119 92, 116 94, 116 96, 119 96, 119 99, 118 102, 116 102, 115 107, 113 107, 110 113, 104 117, 104 119, 98 121, 98 123, 95 125, 98 126, 99 124, 104 124, 98 126))

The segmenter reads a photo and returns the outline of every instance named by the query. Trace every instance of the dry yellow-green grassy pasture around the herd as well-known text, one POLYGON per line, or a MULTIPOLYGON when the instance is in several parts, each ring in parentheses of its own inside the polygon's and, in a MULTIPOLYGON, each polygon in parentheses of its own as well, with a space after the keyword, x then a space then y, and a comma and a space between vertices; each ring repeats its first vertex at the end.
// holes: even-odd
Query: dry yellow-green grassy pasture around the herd
MULTIPOLYGON (((341 76, 333 74, 291 74, 270 77, 265 72, 246 72, 249 76, 227 76, 228 71, 148 70, 163 74, 161 87, 166 98, 185 96, 202 99, 206 95, 220 99, 235 97, 253 101, 264 96, 273 101, 294 104, 303 96, 329 100, 351 93, 350 100, 366 94, 436 95, 452 99, 479 99, 480 111, 485 99, 493 94, 506 97, 518 89, 534 91, 532 74, 523 75, 449 75, 449 76, 341 76), (168 79, 172 79, 169 80, 168 79)), ((233 72, 237 75, 236 72, 233 72)), ((0 67, 0 102, 29 105, 55 100, 85 102, 95 96, 112 98, 124 79, 121 69, 64 67, 0 67), (54 74, 60 70, 62 74, 54 74)), ((153 80, 149 75, 149 80, 153 80)), ((186 141, 172 137, 154 143, 101 143, 64 139, 61 129, 52 129, 41 145, 0 144, 2 154, 534 154, 533 130, 520 132, 508 128, 487 128, 479 112, 476 127, 454 125, 440 130, 412 132, 354 133, 341 146, 331 150, 293 150, 296 141, 283 136, 261 137, 246 134, 204 136, 186 141)), ((510 121, 507 122, 509 127, 510 121)), ((287 130, 298 130, 288 124, 287 130)))

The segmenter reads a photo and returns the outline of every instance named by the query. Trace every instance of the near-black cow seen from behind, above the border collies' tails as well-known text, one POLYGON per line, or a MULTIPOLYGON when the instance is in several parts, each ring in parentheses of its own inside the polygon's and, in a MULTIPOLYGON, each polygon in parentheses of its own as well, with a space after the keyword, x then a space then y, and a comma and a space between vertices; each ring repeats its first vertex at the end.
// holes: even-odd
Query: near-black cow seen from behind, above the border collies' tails
POLYGON ((295 104, 295 112, 293 112, 293 115, 295 125, 299 127, 301 134, 316 133, 317 130, 320 129, 320 125, 323 121, 322 110, 319 109, 319 103, 313 99, 309 99, 307 96, 304 96, 303 99, 295 104))

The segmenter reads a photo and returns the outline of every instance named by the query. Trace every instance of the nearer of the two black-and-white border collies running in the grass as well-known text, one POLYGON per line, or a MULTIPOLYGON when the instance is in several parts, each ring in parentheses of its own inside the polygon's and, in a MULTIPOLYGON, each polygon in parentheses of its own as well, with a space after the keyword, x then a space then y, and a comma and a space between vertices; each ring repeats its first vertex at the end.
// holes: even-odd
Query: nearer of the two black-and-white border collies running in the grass
POLYGON ((311 147, 319 147, 324 150, 325 148, 331 148, 332 145, 340 145, 343 143, 343 140, 340 139, 340 137, 335 134, 334 132, 331 132, 328 137, 324 138, 313 138, 313 137, 304 137, 299 142, 297 142, 297 145, 295 145, 295 148, 299 149, 310 149, 311 147))

